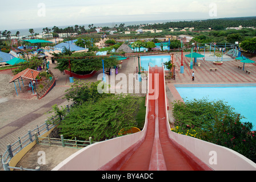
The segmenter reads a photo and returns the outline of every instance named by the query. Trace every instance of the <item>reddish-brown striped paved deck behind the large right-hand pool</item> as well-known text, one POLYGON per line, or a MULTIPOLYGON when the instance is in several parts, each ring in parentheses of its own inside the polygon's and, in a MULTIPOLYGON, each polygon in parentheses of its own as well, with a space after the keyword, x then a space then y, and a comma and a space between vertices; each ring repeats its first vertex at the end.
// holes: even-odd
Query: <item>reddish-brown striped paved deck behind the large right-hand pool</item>
MULTIPOLYGON (((175 64, 175 80, 166 80, 166 84, 173 93, 175 100, 182 100, 181 96, 175 89, 174 85, 195 85, 203 84, 256 84, 256 65, 252 63, 246 63, 243 71, 243 63, 239 60, 223 61, 222 65, 214 65, 213 61, 197 60, 201 63, 200 67, 193 65, 193 69, 190 69, 189 63, 191 58, 185 57, 183 59, 184 70, 180 73, 181 67, 181 52, 174 53, 175 64), (242 69, 238 69, 238 65, 242 69), (217 71, 210 71, 210 68, 217 68, 217 71), (251 73, 247 74, 246 70, 251 73), (194 71, 195 80, 192 81, 191 74, 194 71)), ((193 58, 194 61, 194 58, 193 58)), ((245 85, 246 86, 246 85, 245 85)), ((254 85, 255 86, 255 85, 254 85)))

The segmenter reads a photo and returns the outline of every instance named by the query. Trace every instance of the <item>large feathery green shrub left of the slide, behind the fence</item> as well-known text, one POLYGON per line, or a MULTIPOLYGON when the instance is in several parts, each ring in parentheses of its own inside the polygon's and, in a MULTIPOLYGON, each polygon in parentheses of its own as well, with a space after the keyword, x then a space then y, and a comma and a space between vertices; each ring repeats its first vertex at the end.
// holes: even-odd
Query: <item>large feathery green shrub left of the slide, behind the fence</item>
POLYGON ((138 99, 112 95, 97 102, 88 101, 74 107, 59 125, 67 138, 104 140, 116 137, 121 129, 136 126, 138 99))

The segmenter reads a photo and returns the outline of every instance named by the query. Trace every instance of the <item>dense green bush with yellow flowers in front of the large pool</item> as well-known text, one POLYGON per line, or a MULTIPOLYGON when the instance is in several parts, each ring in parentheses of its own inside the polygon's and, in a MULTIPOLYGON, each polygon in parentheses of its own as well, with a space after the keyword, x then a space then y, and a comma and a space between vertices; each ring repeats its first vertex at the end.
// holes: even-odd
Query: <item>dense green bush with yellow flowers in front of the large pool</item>
POLYGON ((173 103, 172 131, 230 148, 256 162, 256 137, 251 122, 223 101, 207 98, 173 103))

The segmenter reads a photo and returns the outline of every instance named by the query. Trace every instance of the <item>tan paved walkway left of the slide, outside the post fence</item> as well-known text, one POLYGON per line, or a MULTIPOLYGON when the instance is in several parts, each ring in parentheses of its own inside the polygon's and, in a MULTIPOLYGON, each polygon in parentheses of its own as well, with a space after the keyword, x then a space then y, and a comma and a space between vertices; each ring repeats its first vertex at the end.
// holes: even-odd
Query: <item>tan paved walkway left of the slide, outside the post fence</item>
MULTIPOLYGON (((137 58, 123 60, 122 67, 118 69, 118 72, 125 74, 136 73, 137 65, 137 58)), ((63 99, 63 96, 65 96, 65 90, 70 88, 71 85, 69 81, 69 76, 63 75, 63 73, 58 71, 58 69, 53 69, 54 66, 54 64, 50 64, 50 70, 55 76, 56 85, 41 100, 37 100, 37 98, 34 97, 33 93, 28 93, 26 88, 22 89, 22 91, 17 88, 18 96, 15 92, 15 89, 13 90, 13 93, 9 94, 9 96, 0 96, 0 155, 3 155, 3 153, 6 151, 7 144, 12 144, 16 142, 18 140, 18 137, 23 137, 24 135, 26 135, 28 130, 33 130, 37 127, 37 125, 40 126, 45 123, 45 119, 51 117, 52 115, 51 113, 47 114, 47 112, 51 110, 51 106, 57 104, 59 107, 61 107, 67 104, 71 104, 71 102, 63 99)), ((100 73, 102 73, 102 71, 98 71, 91 78, 80 80, 95 82, 97 81, 97 77, 100 73)), ((11 71, 0 72, 0 76, 1 74, 11 75, 11 71)), ((9 80, 6 80, 6 82, 9 82, 9 80)), ((70 151, 69 148, 65 148, 65 150, 70 151)), ((73 151, 75 152, 76 150, 73 151)), ((53 154, 52 152, 53 151, 51 150, 51 155, 54 155, 57 158, 61 158, 62 160, 65 159, 63 158, 63 155, 59 155, 57 151, 56 154, 53 154)), ((34 155, 37 156, 37 153, 34 155)), ((35 163, 37 163, 37 161, 35 161, 35 163)), ((58 163, 55 163, 56 166, 57 164, 58 163)), ((26 166, 23 166, 23 168, 26 168, 26 166)), ((2 164, 0 165, 0 170, 1 169, 2 164)))

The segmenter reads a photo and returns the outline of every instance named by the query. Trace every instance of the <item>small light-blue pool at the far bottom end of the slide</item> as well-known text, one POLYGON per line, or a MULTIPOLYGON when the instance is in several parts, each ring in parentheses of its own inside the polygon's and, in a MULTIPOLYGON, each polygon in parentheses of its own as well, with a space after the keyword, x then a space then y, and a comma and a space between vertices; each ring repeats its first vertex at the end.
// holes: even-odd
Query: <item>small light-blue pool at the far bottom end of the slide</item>
MULTIPOLYGON (((154 67, 157 65, 158 67, 162 67, 162 63, 165 63, 167 61, 171 60, 171 56, 141 56, 141 67, 143 67, 146 71, 150 67, 154 67)), ((168 69, 165 68, 167 71, 168 69)))

